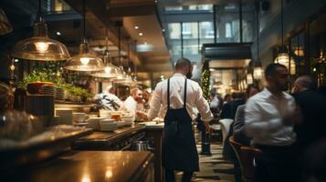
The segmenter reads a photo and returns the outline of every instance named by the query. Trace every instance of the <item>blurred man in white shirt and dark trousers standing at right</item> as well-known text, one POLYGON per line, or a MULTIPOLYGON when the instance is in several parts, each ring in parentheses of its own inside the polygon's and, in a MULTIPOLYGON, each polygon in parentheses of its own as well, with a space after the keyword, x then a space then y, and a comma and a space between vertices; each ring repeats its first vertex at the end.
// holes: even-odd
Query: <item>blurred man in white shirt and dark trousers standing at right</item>
POLYGON ((292 122, 295 101, 285 93, 289 86, 286 66, 270 64, 265 70, 268 83, 263 91, 248 99, 245 130, 262 150, 256 158, 256 181, 295 181, 295 133, 292 122), (289 125, 288 125, 289 123, 289 125))

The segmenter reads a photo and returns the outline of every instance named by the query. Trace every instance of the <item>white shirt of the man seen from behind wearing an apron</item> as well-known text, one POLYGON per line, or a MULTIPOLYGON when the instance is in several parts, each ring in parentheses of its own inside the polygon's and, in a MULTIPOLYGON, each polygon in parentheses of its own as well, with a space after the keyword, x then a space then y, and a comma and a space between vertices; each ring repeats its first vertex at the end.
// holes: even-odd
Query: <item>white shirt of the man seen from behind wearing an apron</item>
MULTIPOLYGON (((174 74, 170 78, 170 107, 182 108, 184 106, 184 78, 183 74, 174 74)), ((187 80, 186 89, 186 110, 189 116, 193 116, 193 107, 196 107, 202 116, 203 121, 213 119, 209 105, 203 97, 202 88, 193 80, 187 80)), ((159 113, 163 105, 163 115, 167 111, 167 80, 158 83, 152 96, 148 118, 152 120, 159 113)))

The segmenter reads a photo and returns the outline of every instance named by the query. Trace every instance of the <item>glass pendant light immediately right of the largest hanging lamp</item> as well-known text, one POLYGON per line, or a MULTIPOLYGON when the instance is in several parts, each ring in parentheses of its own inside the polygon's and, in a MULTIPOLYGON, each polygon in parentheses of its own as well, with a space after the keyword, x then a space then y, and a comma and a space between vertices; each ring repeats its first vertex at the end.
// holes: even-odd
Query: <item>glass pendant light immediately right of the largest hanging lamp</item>
POLYGON ((86 9, 83 0, 83 37, 79 45, 79 54, 71 57, 65 63, 64 68, 70 71, 95 72, 104 70, 104 64, 100 57, 92 54, 86 40, 86 9))

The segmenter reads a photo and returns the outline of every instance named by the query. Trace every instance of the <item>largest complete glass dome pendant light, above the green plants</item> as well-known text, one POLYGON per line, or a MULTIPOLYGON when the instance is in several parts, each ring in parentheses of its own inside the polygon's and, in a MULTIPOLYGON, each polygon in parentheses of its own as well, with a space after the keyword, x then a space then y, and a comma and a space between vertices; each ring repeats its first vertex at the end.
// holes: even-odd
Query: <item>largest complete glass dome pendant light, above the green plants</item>
POLYGON ((34 24, 34 36, 16 43, 12 56, 26 60, 62 61, 70 56, 62 43, 47 36, 47 23, 42 15, 41 0, 38 0, 38 16, 34 24))

